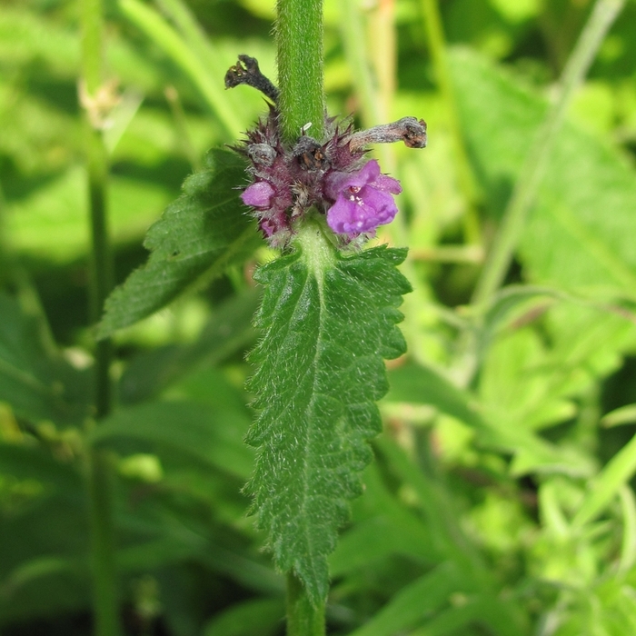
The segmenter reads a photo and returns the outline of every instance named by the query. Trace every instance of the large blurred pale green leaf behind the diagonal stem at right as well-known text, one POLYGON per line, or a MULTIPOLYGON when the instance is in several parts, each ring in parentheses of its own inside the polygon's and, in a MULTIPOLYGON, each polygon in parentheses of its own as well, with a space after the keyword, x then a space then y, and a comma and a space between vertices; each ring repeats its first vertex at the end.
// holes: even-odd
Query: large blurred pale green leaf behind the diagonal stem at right
MULTIPOLYGON (((542 121, 545 101, 467 49, 453 51, 452 75, 467 123, 464 134, 488 197, 501 207, 542 121)), ((533 283, 633 298, 635 207, 630 164, 609 144, 566 124, 523 231, 526 274, 533 283)))

